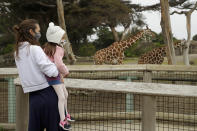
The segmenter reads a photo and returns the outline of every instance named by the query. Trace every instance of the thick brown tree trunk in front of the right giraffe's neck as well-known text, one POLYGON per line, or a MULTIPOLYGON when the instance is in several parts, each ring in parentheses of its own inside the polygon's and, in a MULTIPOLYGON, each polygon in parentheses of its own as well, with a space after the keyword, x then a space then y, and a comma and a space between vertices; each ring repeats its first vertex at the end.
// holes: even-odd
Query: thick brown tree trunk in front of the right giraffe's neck
POLYGON ((175 50, 173 45, 173 37, 171 31, 169 3, 168 0, 160 0, 161 2, 161 27, 164 36, 164 42, 167 44, 168 64, 176 64, 175 50))

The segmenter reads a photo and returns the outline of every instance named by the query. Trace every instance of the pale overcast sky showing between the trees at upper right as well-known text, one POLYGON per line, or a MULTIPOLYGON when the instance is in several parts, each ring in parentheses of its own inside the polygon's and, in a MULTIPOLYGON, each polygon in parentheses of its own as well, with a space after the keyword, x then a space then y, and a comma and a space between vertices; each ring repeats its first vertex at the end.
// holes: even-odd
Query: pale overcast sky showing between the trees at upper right
MULTIPOLYGON (((141 5, 152 5, 155 3, 159 3, 160 0, 131 0, 132 3, 141 4, 141 5)), ((197 0, 188 0, 188 1, 197 1, 197 0)), ((149 28, 153 31, 160 33, 160 20, 161 15, 160 12, 151 12, 146 11, 142 12, 146 17, 146 23, 148 24, 149 28)), ((185 15, 177 15, 174 14, 171 17, 171 28, 172 33, 176 38, 183 39, 187 38, 187 31, 186 31, 186 18, 185 15)), ((197 34, 197 11, 194 11, 191 16, 191 33, 193 35, 197 34)))

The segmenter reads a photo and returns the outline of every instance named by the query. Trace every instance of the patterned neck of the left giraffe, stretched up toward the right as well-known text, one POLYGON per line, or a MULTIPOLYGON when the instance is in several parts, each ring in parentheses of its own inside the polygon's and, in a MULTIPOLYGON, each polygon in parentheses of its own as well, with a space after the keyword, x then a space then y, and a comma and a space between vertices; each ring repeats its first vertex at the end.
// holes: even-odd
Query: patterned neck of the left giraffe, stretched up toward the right
POLYGON ((139 40, 144 34, 144 31, 138 32, 135 36, 130 37, 127 40, 120 41, 120 45, 122 46, 122 49, 125 50, 132 46, 137 40, 139 40))

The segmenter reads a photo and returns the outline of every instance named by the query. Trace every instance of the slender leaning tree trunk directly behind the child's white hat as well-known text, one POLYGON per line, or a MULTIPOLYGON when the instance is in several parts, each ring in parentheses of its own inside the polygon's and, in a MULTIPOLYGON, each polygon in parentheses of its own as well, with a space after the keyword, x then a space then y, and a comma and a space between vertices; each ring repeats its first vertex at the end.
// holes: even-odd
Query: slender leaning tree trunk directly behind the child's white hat
POLYGON ((57 13, 58 13, 59 25, 66 32, 65 33, 65 39, 67 41, 67 44, 64 46, 65 55, 66 55, 66 58, 68 60, 68 63, 69 64, 74 64, 76 62, 76 58, 73 54, 71 43, 70 43, 70 41, 68 39, 68 35, 67 35, 67 30, 66 30, 66 25, 65 25, 65 20, 64 20, 64 7, 63 7, 62 0, 57 0, 57 13))

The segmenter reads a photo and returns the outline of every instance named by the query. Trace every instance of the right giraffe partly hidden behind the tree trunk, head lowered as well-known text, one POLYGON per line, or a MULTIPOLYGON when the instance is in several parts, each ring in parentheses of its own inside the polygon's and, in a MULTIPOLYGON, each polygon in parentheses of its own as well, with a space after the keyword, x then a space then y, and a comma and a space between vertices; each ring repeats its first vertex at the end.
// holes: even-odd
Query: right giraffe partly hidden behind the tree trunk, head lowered
MULTIPOLYGON (((178 49, 184 47, 185 40, 178 41, 174 44, 174 48, 178 49)), ((138 59, 138 64, 162 64, 164 61, 164 57, 166 56, 167 46, 155 48, 138 59)))

